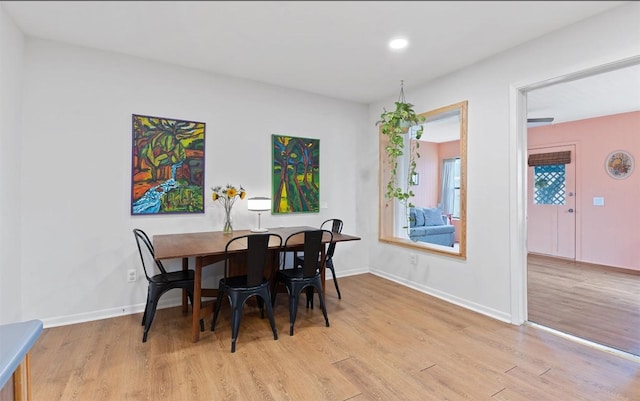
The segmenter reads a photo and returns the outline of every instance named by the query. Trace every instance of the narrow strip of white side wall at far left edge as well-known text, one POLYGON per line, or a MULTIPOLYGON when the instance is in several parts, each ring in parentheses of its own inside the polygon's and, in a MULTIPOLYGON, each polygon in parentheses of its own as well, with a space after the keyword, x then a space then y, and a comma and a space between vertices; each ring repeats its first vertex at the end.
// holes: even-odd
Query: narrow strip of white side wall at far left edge
POLYGON ((0 6, 0 324, 20 319, 20 105, 24 36, 0 6))

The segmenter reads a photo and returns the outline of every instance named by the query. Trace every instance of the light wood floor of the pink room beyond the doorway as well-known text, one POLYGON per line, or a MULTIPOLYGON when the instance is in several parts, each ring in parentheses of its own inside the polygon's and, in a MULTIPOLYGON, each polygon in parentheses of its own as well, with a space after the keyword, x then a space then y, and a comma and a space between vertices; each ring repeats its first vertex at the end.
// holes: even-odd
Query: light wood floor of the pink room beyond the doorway
POLYGON ((640 272, 528 259, 529 321, 640 355, 640 272))

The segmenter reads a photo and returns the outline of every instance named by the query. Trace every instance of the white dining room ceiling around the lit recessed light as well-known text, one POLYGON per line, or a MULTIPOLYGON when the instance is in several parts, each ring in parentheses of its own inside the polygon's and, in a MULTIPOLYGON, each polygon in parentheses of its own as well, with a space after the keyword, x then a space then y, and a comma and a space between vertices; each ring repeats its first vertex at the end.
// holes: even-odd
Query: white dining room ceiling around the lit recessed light
MULTIPOLYGON (((412 87, 624 3, 629 2, 0 2, 30 37, 360 103, 397 95, 400 80, 410 93, 412 87), (409 47, 388 49, 397 36, 408 38, 409 47)), ((550 89, 531 92, 530 109, 558 121, 562 114, 550 89)), ((585 95, 577 87, 556 90, 585 95)))

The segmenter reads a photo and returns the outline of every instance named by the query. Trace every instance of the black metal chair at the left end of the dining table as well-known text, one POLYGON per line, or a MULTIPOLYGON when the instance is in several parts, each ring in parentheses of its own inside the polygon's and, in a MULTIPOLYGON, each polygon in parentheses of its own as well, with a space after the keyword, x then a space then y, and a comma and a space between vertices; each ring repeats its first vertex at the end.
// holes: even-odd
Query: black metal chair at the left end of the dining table
MULTIPOLYGON (((156 308, 160 297, 165 292, 174 288, 180 288, 187 290, 189 301, 193 305, 193 282, 194 271, 193 270, 179 270, 175 272, 167 272, 162 263, 155 259, 153 245, 149 240, 147 234, 138 229, 133 229, 133 235, 138 244, 138 252, 140 253, 140 260, 142 261, 142 268, 144 269, 144 275, 147 277, 149 286, 147 288, 147 304, 144 308, 144 314, 142 315, 142 325, 144 326, 144 334, 142 335, 142 342, 147 342, 147 334, 153 317, 156 314, 156 308), (145 260, 148 262, 145 263, 145 260), (151 266, 154 265, 160 270, 160 273, 154 274, 151 266)), ((204 320, 200 319, 200 330, 204 331, 204 320)))

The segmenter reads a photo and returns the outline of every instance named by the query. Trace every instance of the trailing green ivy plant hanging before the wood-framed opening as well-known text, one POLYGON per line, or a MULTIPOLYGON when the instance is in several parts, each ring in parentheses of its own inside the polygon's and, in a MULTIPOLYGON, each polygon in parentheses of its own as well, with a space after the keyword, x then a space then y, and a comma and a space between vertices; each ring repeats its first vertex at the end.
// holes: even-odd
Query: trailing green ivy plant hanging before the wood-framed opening
POLYGON ((387 182, 385 196, 387 199, 397 199, 405 207, 412 207, 411 198, 414 196, 411 187, 414 185, 413 177, 416 174, 416 160, 420 157, 418 148, 420 144, 417 142, 422 137, 424 127, 423 116, 418 116, 413 111, 411 103, 404 102, 403 93, 401 91, 401 99, 396 104, 396 109, 387 111, 380 115, 380 120, 376 125, 380 126, 382 135, 385 135, 389 142, 385 147, 387 161, 389 163, 389 181, 387 182), (416 141, 407 138, 411 135, 411 127, 418 126, 413 132, 416 141), (407 165, 406 182, 398 182, 398 160, 404 156, 405 141, 409 144, 409 163, 407 165))

